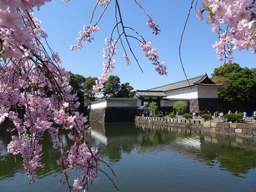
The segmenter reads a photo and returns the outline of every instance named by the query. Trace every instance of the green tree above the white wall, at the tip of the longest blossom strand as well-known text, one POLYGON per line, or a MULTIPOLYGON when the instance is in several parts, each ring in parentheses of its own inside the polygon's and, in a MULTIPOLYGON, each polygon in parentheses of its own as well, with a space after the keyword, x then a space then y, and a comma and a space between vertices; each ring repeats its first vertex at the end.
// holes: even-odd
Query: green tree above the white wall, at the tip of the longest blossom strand
POLYGON ((120 78, 118 76, 109 76, 103 88, 104 98, 117 97, 120 88, 120 78))

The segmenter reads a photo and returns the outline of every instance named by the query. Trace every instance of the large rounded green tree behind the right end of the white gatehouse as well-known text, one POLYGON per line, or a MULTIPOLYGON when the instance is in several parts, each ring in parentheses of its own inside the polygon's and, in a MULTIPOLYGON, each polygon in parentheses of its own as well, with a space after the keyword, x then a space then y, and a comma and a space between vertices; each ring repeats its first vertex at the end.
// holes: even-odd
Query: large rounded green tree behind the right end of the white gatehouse
POLYGON ((256 96, 256 76, 253 69, 240 67, 237 63, 226 63, 214 69, 214 83, 223 83, 219 98, 223 100, 253 100, 256 96))

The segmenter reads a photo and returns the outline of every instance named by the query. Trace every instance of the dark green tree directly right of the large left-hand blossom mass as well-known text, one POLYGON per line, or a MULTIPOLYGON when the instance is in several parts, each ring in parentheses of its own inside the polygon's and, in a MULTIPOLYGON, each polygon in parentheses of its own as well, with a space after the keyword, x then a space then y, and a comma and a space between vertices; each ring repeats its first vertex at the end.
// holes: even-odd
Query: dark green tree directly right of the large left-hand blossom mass
POLYGON ((84 83, 86 82, 86 78, 79 74, 72 74, 72 72, 68 72, 70 75, 69 84, 72 86, 72 94, 77 94, 77 101, 84 106, 84 83))

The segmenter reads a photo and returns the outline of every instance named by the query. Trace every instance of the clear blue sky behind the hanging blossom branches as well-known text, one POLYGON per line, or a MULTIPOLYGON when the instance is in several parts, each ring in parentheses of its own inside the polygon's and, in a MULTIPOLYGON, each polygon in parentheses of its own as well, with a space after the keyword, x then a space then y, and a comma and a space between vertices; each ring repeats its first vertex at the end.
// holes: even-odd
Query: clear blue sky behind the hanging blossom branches
MULTIPOLYGON (((117 44, 116 69, 111 75, 120 77, 121 83, 129 82, 134 90, 147 90, 147 88, 186 79, 179 60, 179 42, 190 0, 137 1, 159 25, 161 33, 157 36, 152 35, 151 29, 146 24, 148 17, 133 0, 119 1, 125 26, 136 29, 145 40, 152 41, 152 47, 158 49, 159 61, 164 61, 168 67, 168 76, 157 74, 154 65, 145 58, 144 52, 138 45, 139 42, 134 40, 131 40, 132 49, 140 62, 143 73, 134 58, 131 58, 132 63, 129 66, 125 65, 122 58, 124 51, 122 46, 117 44)), ((115 24, 115 2, 113 1, 98 24, 100 31, 92 34, 95 40, 91 44, 83 44, 82 50, 70 50, 70 45, 77 44, 76 37, 79 36, 83 25, 88 26, 90 23, 95 3, 95 0, 72 0, 68 3, 52 0, 51 3, 42 6, 40 12, 35 12, 35 17, 42 21, 42 28, 49 35, 49 45, 60 54, 63 60, 61 65, 66 70, 84 77, 101 76, 102 62, 104 62, 102 49, 106 47, 104 39, 110 37, 115 24)), ((103 7, 98 9, 101 11, 103 7)), ((95 13, 92 24, 99 18, 99 13, 95 13)), ((218 35, 212 32, 212 26, 206 24, 205 20, 199 20, 195 15, 194 6, 182 41, 181 54, 184 68, 188 78, 201 76, 205 72, 211 77, 214 68, 223 65, 223 61, 217 60, 216 52, 212 48, 218 35)), ((129 51, 128 55, 131 56, 129 51)), ((234 62, 239 63, 241 67, 255 67, 255 56, 250 51, 235 50, 234 58, 234 62)))

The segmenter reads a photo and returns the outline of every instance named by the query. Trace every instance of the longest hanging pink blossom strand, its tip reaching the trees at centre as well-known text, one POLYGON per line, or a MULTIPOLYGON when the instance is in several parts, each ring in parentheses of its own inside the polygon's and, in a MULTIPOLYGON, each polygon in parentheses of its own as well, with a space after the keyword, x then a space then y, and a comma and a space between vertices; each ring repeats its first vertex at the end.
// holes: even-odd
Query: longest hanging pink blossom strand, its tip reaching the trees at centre
POLYGON ((116 40, 106 38, 105 44, 107 48, 103 49, 103 58, 106 60, 106 62, 103 63, 103 73, 102 76, 95 81, 96 84, 93 86, 93 90, 98 95, 102 93, 102 88, 104 87, 105 81, 108 79, 109 73, 115 69, 115 60, 113 60, 113 58, 116 56, 116 40))

